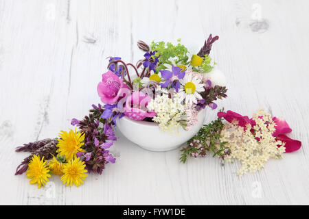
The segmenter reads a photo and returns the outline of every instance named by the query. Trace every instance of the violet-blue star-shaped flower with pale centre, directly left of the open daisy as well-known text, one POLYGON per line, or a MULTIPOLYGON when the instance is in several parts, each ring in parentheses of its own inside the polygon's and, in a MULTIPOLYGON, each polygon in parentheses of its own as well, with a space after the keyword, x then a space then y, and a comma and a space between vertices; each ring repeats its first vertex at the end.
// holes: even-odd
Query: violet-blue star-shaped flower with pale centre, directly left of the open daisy
POLYGON ((172 88, 178 92, 180 88, 179 79, 185 77, 185 71, 181 71, 181 68, 172 65, 172 72, 170 70, 160 70, 160 73, 163 79, 165 79, 164 83, 160 83, 161 88, 168 88, 172 83, 172 88))

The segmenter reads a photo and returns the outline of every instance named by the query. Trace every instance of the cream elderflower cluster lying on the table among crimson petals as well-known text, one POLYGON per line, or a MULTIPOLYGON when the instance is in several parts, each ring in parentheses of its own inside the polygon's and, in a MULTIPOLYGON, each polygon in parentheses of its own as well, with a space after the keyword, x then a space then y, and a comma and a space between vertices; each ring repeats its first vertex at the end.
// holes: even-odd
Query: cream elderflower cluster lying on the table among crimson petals
POLYGON ((271 158, 281 158, 286 151, 284 142, 273 137, 275 122, 271 115, 258 110, 253 114, 256 125, 247 125, 246 130, 238 126, 238 121, 225 123, 221 132, 221 141, 228 142, 225 146, 231 150, 227 161, 238 159, 241 162, 238 175, 247 172, 256 172, 264 167, 271 158))

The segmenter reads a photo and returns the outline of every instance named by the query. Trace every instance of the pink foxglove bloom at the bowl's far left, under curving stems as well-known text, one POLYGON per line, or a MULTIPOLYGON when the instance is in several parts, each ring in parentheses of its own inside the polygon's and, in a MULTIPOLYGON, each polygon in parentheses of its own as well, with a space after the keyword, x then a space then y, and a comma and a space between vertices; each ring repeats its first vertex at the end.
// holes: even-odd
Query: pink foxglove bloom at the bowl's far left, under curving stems
POLYGON ((102 82, 98 84, 98 94, 104 104, 114 104, 125 96, 129 88, 111 70, 102 74, 102 82))

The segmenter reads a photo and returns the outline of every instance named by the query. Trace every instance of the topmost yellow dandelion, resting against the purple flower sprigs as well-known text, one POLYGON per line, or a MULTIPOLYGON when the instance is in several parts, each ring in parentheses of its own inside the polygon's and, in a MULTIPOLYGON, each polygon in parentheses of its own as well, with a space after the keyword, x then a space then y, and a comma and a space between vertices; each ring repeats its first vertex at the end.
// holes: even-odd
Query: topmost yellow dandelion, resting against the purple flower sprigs
POLYGON ((59 137, 58 153, 64 155, 67 160, 73 159, 73 155, 78 152, 84 152, 84 149, 82 149, 84 135, 79 131, 76 132, 76 129, 75 131, 71 129, 69 132, 61 131, 59 137))

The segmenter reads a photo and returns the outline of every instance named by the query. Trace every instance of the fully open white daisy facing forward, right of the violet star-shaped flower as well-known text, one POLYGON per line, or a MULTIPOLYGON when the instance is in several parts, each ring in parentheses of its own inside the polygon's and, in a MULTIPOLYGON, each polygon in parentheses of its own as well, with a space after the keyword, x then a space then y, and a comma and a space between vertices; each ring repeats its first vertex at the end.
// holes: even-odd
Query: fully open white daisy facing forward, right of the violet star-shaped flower
POLYGON ((203 99, 201 94, 199 94, 205 90, 201 79, 194 77, 192 74, 185 74, 185 77, 180 80, 180 83, 181 90, 179 93, 182 96, 182 100, 185 99, 185 104, 196 104, 198 99, 203 99))

